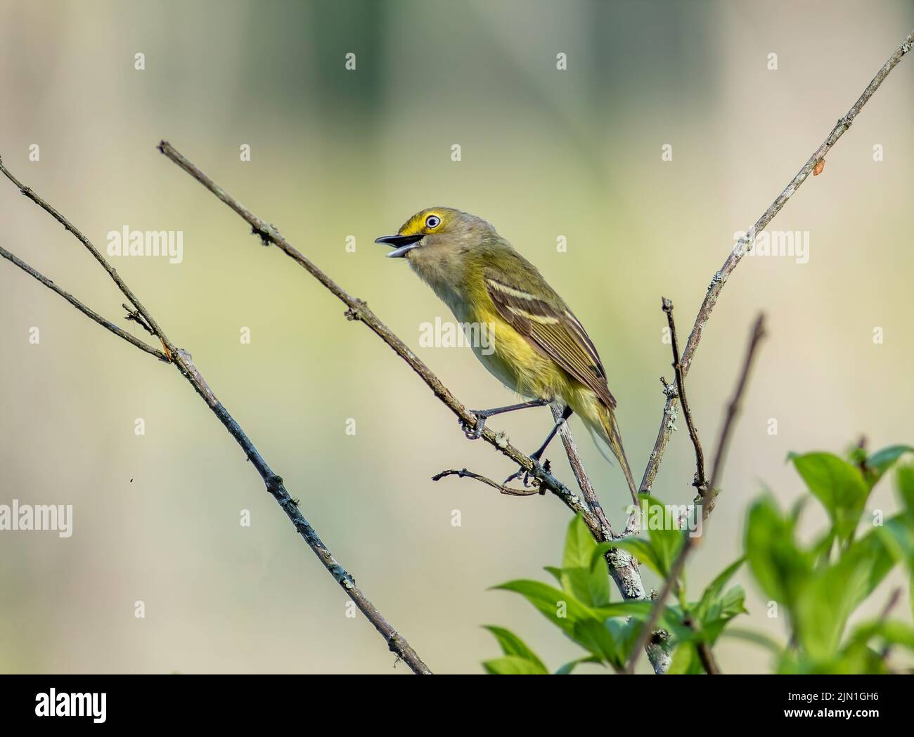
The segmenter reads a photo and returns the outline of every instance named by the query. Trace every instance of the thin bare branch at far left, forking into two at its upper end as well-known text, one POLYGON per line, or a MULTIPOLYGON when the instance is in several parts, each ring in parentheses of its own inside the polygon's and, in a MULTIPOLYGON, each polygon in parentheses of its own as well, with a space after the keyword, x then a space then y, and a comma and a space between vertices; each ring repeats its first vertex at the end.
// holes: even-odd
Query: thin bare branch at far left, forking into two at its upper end
MULTIPOLYGON (((123 332, 120 328, 112 325, 109 321, 104 320, 104 318, 101 318, 101 316, 97 315, 95 312, 82 305, 79 300, 71 297, 64 290, 59 289, 57 285, 54 284, 54 282, 41 275, 34 268, 29 267, 25 262, 13 256, 13 254, 10 254, 4 250, 0 255, 3 255, 4 258, 8 258, 10 261, 16 264, 16 266, 26 271, 30 276, 40 281, 49 289, 57 292, 61 297, 76 307, 80 312, 87 315, 92 320, 98 322, 100 325, 107 328, 111 332, 114 332, 119 337, 122 337, 127 342, 132 343, 137 348, 140 348, 146 353, 153 354, 160 360, 175 363, 178 371, 194 387, 194 389, 197 391, 197 394, 207 402, 210 410, 214 415, 218 417, 219 422, 221 422, 222 425, 228 429, 229 434, 235 438, 239 446, 244 450, 251 464, 255 469, 257 469, 258 473, 260 473, 260 478, 263 479, 267 490, 279 503, 280 507, 282 507, 282 511, 286 513, 286 516, 292 521, 296 531, 298 531, 298 533, 303 537, 304 541, 308 543, 308 546, 312 549, 312 551, 314 551, 314 554, 317 555, 321 563, 324 564, 324 568, 326 568, 327 571, 334 577, 336 583, 343 588, 345 593, 356 604, 359 610, 384 637, 391 652, 396 653, 399 659, 402 659, 404 662, 406 662, 406 664, 409 666, 409 669, 411 669, 414 673, 430 674, 431 671, 429 667, 422 662, 418 653, 416 653, 416 651, 409 646, 409 642, 407 642, 406 638, 399 635, 399 633, 388 624, 388 621, 384 618, 384 616, 382 616, 381 613, 377 611, 375 605, 371 603, 368 597, 356 585, 356 580, 353 578, 353 576, 349 574, 342 565, 336 562, 336 559, 327 549, 326 545, 324 545, 324 542, 322 542, 320 537, 318 537, 314 527, 312 527, 311 524, 304 519, 302 512, 298 508, 297 502, 292 500, 289 492, 285 489, 282 478, 275 474, 270 466, 267 465, 267 462, 260 456, 260 452, 256 447, 254 447, 254 444, 250 441, 250 438, 245 434, 244 430, 241 429, 241 426, 239 426, 238 422, 235 421, 235 418, 228 414, 228 410, 218 401, 216 395, 213 394, 212 390, 209 388, 209 385, 203 379, 203 376, 197 369, 197 366, 191 360, 190 353, 177 348, 174 343, 170 342, 165 337, 165 332, 162 331, 158 323, 154 320, 153 316, 143 307, 143 304, 136 298, 136 296, 127 287, 120 276, 118 276, 117 272, 114 270, 114 268, 112 268, 111 264, 109 264, 108 261, 101 255, 101 252, 91 244, 90 240, 87 237, 83 236, 82 233, 80 233, 80 231, 75 226, 73 226, 66 217, 62 216, 54 207, 48 205, 45 200, 35 194, 30 188, 21 184, 16 179, 16 177, 13 176, 13 174, 10 174, 10 172, 5 168, 2 159, 0 159, 0 172, 5 174, 7 179, 16 184, 16 186, 19 188, 19 191, 22 192, 23 195, 26 195, 36 205, 53 216, 58 221, 58 223, 69 230, 69 232, 72 233, 73 236, 75 236, 80 241, 80 243, 82 243, 82 245, 90 251, 90 253, 99 261, 99 263, 101 263, 101 266, 105 269, 105 271, 108 272, 108 275, 113 279, 114 283, 117 284, 123 295, 133 305, 135 312, 132 312, 130 308, 127 308, 128 313, 131 313, 146 322, 147 328, 154 331, 154 334, 158 336, 162 341, 165 353, 159 353, 153 348, 150 348, 148 345, 137 341, 129 333, 123 332)), ((133 319, 135 320, 137 317, 134 317, 133 319)))

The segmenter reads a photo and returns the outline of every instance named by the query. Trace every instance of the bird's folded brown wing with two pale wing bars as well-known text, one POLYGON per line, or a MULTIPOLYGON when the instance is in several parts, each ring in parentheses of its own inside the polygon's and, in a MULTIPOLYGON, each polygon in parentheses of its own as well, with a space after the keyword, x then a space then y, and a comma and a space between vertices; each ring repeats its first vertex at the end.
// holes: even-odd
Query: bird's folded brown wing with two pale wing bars
MULTIPOLYGON (((548 289, 545 282, 543 287, 548 289)), ((498 313, 517 332, 581 384, 589 386, 605 405, 615 408, 616 400, 606 383, 600 355, 584 326, 562 300, 553 300, 559 305, 553 307, 495 271, 486 273, 485 289, 498 313)))

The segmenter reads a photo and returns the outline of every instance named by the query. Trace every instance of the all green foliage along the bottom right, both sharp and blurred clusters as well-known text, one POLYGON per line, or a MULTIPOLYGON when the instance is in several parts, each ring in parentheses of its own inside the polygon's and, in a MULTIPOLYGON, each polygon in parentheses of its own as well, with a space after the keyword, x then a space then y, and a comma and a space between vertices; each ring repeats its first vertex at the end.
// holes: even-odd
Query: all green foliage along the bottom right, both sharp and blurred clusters
MULTIPOLYGON (((792 454, 790 459, 809 490, 792 511, 781 511, 763 495, 749 506, 744 556, 731 563, 697 598, 686 595, 685 581, 674 583, 676 603, 664 606, 658 626, 669 634, 673 649, 670 673, 704 672, 699 649, 713 647, 719 637, 748 641, 771 652, 782 673, 884 673, 891 648, 914 650, 914 626, 886 616, 865 622, 848 634, 857 607, 873 594, 896 566, 908 570, 914 600, 914 465, 900 463, 912 451, 892 446, 867 455, 854 448, 849 460, 830 453, 792 454), (874 515, 860 532, 866 502, 877 482, 891 469, 897 479, 902 511, 882 520, 874 515), (829 527, 811 542, 797 532, 806 499, 818 500, 829 527), (743 563, 764 595, 786 615, 790 644, 767 635, 730 626, 747 613, 745 592, 731 581, 743 563)), ((582 663, 620 671, 632 658, 650 601, 611 601, 605 556, 615 548, 631 553, 662 578, 669 576, 686 540, 678 519, 653 497, 643 497, 643 534, 597 544, 584 522, 573 519, 565 538, 560 567, 547 566, 558 588, 533 580, 509 581, 494 588, 522 595, 549 622, 583 650, 579 658, 555 672, 567 675, 582 663)), ((678 513, 678 512, 676 512, 678 513)), ((685 578, 685 576, 683 577, 685 578)), ((547 674, 549 669, 523 640, 503 627, 486 627, 502 657, 487 660, 493 674, 547 674)))

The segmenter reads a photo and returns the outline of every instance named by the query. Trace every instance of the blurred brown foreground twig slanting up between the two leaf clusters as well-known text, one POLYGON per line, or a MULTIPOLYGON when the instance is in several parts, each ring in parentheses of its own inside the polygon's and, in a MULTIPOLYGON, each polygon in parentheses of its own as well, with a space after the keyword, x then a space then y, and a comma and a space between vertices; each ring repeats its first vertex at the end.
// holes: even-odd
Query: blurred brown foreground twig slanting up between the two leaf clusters
MULTIPOLYGON (((717 453, 714 458, 714 466, 711 471, 711 480, 710 480, 710 489, 715 489, 715 484, 717 480, 720 479, 720 472, 723 469, 723 461, 727 457, 727 448, 729 446, 730 435, 733 429, 733 420, 739 413, 739 406, 742 403, 742 395, 746 391, 746 384, 749 381, 749 373, 752 369, 752 363, 755 359, 755 354, 759 348, 759 342, 765 335, 765 316, 759 315, 756 319, 755 324, 752 326, 752 333, 749 337, 749 347, 746 349, 746 358, 743 361, 742 371, 739 373, 739 381, 737 382, 737 387, 734 390, 733 397, 730 399, 730 402, 727 406, 727 416, 724 420, 723 426, 721 426, 720 436, 717 440, 717 453)), ((707 520, 707 515, 711 513, 714 509, 714 496, 709 495, 707 500, 700 502, 702 507, 702 519, 707 520), (707 506, 707 509, 706 509, 707 506)), ((632 658, 629 660, 628 667, 625 669, 627 673, 634 672, 635 663, 638 660, 638 655, 643 650, 644 646, 648 643, 651 638, 652 633, 654 632, 654 626, 657 625, 657 622, 660 621, 660 616, 664 612, 664 605, 666 603, 667 597, 673 591, 674 588, 677 588, 679 585, 679 579, 682 577, 683 571, 685 571, 685 561, 689 556, 689 553, 696 548, 698 542, 701 541, 704 536, 707 528, 702 527, 702 535, 689 537, 684 534, 684 541, 682 549, 679 551, 679 554, 676 556, 675 562, 670 566, 670 573, 667 575, 664 580, 663 588, 661 588, 660 593, 654 599, 654 606, 651 608, 651 614, 647 617, 647 620, 644 622, 644 626, 641 630, 641 634, 638 636, 638 641, 635 644, 635 647, 632 649, 632 658)))

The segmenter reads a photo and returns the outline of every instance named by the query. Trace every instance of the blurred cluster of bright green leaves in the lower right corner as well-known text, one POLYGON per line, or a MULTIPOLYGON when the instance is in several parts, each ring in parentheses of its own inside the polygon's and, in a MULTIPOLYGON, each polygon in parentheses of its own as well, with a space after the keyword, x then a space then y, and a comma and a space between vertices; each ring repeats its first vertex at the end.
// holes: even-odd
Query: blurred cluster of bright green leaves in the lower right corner
MULTIPOLYGON (((914 515, 903 511, 855 537, 873 487, 910 449, 887 447, 868 457, 855 449, 851 459, 856 465, 829 453, 792 455, 807 489, 822 503, 831 522, 830 529, 811 544, 797 538, 799 511, 784 514, 770 497, 751 506, 745 539, 749 566, 761 590, 786 610, 792 633, 793 647, 778 653, 781 672, 886 670, 884 658, 868 646, 869 639, 880 637, 879 630, 858 628, 850 637, 845 637, 845 630, 856 608, 897 563, 912 570, 914 515)), ((897 477, 907 510, 905 490, 914 473, 902 467, 897 477)), ((898 627, 907 627, 885 624, 885 631, 896 634, 898 627)), ((898 644, 904 645, 904 639, 898 644)))

